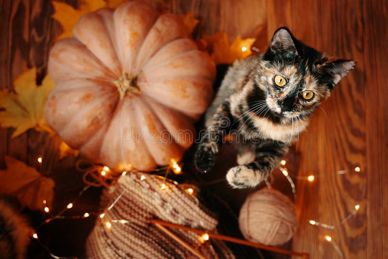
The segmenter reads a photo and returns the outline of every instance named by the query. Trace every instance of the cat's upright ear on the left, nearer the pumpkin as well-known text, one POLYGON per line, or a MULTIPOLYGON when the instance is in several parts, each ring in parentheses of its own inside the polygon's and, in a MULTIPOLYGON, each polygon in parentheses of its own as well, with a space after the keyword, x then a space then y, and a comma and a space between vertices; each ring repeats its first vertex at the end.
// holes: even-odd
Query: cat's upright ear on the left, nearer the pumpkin
POLYGON ((268 51, 272 55, 295 56, 298 54, 298 51, 296 50, 294 39, 288 28, 279 28, 272 37, 268 51))

